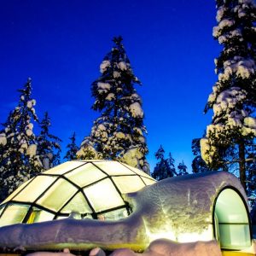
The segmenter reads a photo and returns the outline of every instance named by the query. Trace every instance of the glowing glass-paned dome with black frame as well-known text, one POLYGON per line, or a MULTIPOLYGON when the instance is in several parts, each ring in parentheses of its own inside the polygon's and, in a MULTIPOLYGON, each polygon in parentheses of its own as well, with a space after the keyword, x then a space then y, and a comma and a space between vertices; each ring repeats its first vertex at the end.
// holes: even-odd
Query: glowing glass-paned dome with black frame
POLYGON ((23 183, 0 205, 0 226, 67 218, 125 218, 123 195, 155 183, 137 168, 111 160, 73 160, 23 183))

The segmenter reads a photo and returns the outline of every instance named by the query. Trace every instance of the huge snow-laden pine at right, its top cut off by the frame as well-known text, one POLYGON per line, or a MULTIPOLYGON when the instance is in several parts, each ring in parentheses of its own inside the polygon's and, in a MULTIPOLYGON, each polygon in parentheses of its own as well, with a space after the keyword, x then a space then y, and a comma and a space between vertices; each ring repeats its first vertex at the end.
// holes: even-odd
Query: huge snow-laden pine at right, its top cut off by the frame
POLYGON ((218 81, 206 107, 213 109, 212 124, 201 139, 201 156, 213 169, 237 166, 247 189, 247 148, 256 137, 256 6, 253 0, 217 0, 217 9, 213 37, 223 50, 215 60, 218 81))

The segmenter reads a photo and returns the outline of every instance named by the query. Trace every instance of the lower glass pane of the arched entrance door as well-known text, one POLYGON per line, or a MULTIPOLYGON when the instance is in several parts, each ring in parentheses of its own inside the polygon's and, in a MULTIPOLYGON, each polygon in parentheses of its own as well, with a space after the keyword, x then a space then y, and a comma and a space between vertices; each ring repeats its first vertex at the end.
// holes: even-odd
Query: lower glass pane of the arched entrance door
POLYGON ((220 247, 242 249, 251 246, 248 224, 219 224, 220 247))

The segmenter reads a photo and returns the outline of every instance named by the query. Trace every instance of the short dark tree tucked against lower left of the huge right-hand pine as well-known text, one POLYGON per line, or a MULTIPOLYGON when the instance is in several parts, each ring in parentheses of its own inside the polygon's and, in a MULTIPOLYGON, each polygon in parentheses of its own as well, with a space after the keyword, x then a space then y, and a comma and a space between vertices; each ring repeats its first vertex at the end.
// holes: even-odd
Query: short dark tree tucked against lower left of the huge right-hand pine
POLYGON ((204 160, 201 158, 200 150, 200 140, 201 138, 195 138, 192 140, 192 152, 195 155, 194 160, 192 160, 192 172, 208 172, 211 171, 204 160))

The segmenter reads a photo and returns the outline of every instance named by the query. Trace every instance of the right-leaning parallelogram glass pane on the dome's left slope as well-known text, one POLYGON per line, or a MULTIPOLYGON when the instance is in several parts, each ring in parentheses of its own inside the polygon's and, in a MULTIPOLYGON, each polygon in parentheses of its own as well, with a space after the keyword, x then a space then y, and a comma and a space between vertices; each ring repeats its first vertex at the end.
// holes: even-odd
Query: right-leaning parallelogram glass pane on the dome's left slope
POLYGON ((41 176, 35 177, 32 182, 23 189, 19 195, 16 195, 15 201, 36 201, 39 195, 42 195, 49 185, 55 181, 56 177, 41 176))

